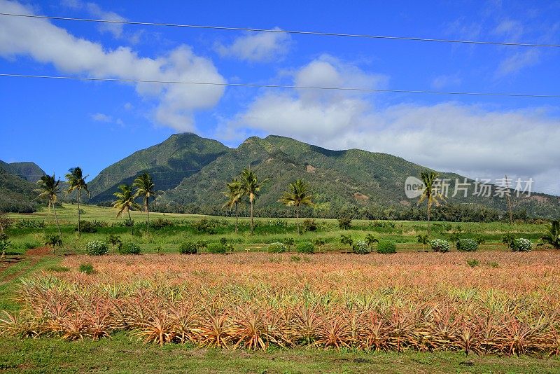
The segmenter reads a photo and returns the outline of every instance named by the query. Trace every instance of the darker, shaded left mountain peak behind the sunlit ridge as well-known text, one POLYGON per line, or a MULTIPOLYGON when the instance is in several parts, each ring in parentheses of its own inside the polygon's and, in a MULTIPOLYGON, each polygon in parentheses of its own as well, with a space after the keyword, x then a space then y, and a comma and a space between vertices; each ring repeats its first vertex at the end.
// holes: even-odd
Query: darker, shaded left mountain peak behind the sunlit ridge
POLYGON ((230 148, 216 140, 192 133, 174 134, 160 144, 134 152, 103 169, 87 183, 90 202, 111 202, 120 184, 132 183, 143 172, 151 174, 158 190, 167 191, 229 151, 230 148))

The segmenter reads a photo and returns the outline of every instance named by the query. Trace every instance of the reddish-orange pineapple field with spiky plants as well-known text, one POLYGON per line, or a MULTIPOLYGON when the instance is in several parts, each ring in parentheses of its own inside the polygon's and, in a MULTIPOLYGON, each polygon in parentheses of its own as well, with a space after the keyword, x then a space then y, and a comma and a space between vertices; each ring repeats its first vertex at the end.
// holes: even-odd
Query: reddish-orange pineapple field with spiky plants
POLYGON ((560 353, 553 251, 67 256, 22 280, 3 334, 155 345, 560 353), (472 260, 477 265, 472 265, 472 260), (89 273, 89 274, 88 274, 89 273))

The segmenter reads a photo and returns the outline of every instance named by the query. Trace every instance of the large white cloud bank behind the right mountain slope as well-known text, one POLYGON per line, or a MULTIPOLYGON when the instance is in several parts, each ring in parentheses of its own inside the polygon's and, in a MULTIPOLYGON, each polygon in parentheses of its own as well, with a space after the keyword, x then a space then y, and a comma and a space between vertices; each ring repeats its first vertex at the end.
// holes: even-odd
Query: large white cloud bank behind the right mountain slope
MULTIPOLYGON (((295 83, 335 85, 356 74, 366 81, 369 77, 370 85, 377 82, 357 67, 324 60, 307 64, 294 76, 295 83)), ((560 119, 554 114, 542 108, 499 110, 457 102, 377 108, 371 95, 268 91, 227 126, 327 148, 390 153, 472 178, 532 176, 536 186, 560 191, 560 119)))

